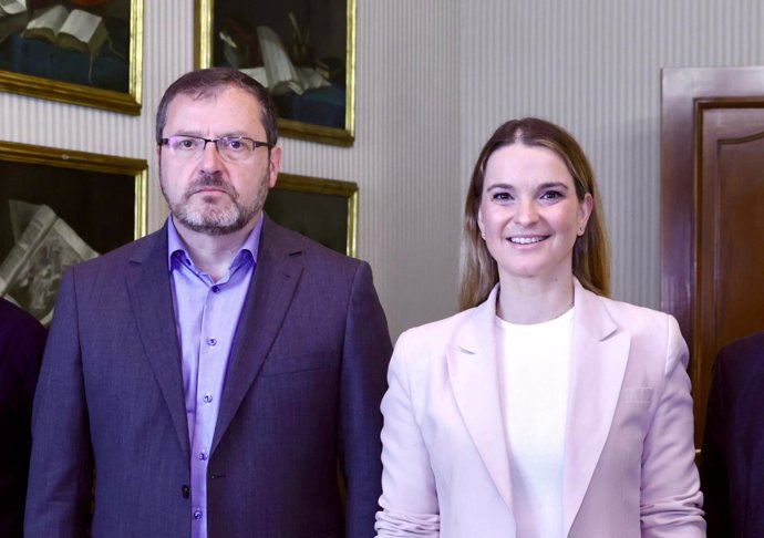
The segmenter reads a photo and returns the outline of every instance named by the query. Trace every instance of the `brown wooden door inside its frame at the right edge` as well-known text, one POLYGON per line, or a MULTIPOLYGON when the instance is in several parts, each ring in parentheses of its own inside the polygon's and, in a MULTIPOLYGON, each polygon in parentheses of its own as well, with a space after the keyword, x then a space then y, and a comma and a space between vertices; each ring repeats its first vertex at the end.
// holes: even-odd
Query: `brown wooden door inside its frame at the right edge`
POLYGON ((764 108, 701 108, 699 412, 714 356, 764 329, 764 108))

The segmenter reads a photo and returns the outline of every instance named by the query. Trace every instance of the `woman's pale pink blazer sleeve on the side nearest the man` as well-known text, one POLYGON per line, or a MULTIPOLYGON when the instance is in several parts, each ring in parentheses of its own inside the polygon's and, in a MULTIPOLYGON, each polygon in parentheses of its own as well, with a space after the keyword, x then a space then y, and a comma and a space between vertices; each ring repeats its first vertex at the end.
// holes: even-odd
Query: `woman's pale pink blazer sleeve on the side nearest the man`
POLYGON ((395 344, 382 400, 382 510, 376 536, 440 536, 441 518, 435 477, 416 423, 406 371, 406 338, 395 344))

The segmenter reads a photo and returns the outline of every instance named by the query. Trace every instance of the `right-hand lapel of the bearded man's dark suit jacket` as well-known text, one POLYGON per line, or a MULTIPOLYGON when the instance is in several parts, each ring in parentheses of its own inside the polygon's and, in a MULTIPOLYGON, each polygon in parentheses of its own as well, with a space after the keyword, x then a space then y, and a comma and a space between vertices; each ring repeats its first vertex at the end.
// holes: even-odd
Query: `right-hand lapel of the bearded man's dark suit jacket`
POLYGON ((255 382, 302 275, 302 245, 265 214, 264 219, 257 267, 239 317, 213 452, 255 382))

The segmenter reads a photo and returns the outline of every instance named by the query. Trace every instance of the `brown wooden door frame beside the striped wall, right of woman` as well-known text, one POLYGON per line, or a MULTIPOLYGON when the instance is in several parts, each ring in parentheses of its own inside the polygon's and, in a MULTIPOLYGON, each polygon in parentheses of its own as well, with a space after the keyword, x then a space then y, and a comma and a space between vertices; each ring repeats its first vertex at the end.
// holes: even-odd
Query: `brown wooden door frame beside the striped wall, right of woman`
POLYGON ((703 114, 764 106, 764 68, 672 68, 661 75, 661 310, 677 318, 690 349, 700 446, 714 359, 699 358, 703 114))

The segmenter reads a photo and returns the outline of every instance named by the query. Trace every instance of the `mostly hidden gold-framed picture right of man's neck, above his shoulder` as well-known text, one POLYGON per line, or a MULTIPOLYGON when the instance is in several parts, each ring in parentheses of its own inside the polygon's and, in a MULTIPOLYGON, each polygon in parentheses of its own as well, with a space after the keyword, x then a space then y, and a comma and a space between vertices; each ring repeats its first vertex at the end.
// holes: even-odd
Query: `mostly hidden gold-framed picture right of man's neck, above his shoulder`
POLYGON ((358 185, 279 174, 266 199, 270 218, 343 255, 355 256, 358 185))

